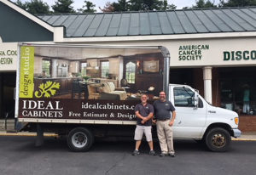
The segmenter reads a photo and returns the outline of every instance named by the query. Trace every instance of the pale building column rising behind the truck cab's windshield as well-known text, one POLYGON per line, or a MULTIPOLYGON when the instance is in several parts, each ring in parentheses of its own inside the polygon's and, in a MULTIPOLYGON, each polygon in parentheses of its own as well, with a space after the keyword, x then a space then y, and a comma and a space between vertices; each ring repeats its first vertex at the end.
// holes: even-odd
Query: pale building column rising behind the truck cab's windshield
POLYGON ((203 78, 205 99, 212 104, 212 67, 203 67, 203 78))

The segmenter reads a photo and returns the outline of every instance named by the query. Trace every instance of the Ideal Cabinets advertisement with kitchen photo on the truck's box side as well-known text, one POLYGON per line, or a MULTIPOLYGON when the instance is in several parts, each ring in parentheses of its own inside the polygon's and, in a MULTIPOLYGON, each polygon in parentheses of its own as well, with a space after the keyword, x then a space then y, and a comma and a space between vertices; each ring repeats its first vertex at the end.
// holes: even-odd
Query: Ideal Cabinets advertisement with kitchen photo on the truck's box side
POLYGON ((19 118, 134 121, 163 89, 158 48, 20 47, 19 118))

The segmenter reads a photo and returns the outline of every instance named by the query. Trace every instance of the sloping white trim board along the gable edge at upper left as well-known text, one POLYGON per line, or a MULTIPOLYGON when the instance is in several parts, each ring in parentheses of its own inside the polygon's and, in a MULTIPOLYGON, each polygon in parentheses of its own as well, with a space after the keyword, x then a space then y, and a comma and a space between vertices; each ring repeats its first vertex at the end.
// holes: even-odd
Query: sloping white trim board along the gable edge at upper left
POLYGON ((15 3, 11 3, 8 0, 0 0, 2 3, 5 5, 9 6, 9 8, 15 9, 15 11, 19 12, 20 14, 23 14, 26 16, 28 19, 38 23, 38 25, 43 26, 45 29, 54 32, 54 27, 49 25, 48 23, 44 22, 44 20, 40 20, 38 17, 26 12, 26 10, 20 8, 19 6, 15 5, 15 3))

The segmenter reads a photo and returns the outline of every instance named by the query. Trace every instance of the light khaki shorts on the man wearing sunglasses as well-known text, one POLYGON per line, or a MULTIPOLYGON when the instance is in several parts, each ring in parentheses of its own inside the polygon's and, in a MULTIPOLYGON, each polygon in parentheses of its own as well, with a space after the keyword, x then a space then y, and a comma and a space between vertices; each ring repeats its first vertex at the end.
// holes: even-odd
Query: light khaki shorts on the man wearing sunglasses
POLYGON ((137 127, 135 129, 134 139, 135 140, 142 140, 143 139, 143 133, 145 133, 145 136, 146 136, 148 142, 152 141, 151 126, 137 125, 137 127))

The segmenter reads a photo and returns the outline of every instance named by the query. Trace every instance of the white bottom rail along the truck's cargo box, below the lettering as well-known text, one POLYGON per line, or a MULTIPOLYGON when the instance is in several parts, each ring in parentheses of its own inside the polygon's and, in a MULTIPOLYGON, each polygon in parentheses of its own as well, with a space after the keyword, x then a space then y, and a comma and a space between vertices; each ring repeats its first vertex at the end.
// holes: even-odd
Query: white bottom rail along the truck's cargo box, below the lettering
POLYGON ((102 121, 102 120, 75 120, 75 119, 39 119, 18 118, 19 122, 47 122, 47 123, 77 123, 77 124, 110 124, 110 125, 136 125, 137 121, 102 121))

